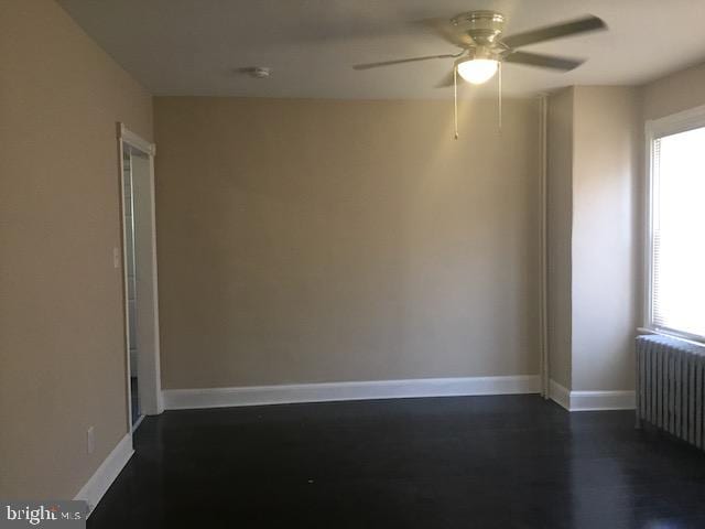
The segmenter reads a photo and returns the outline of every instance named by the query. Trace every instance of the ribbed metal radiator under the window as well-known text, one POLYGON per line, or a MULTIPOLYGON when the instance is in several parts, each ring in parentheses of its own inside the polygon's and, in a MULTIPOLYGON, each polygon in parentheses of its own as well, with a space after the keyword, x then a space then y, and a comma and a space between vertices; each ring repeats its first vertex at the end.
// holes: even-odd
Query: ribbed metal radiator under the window
POLYGON ((637 425, 649 422, 705 449, 705 347, 659 335, 637 338, 637 425))

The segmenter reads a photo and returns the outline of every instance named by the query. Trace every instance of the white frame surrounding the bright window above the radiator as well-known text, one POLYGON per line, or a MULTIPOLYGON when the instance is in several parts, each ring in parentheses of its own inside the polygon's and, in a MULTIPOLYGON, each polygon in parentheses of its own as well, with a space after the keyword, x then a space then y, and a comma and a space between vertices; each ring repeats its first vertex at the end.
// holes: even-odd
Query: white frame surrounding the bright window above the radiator
POLYGON ((644 295, 643 295, 643 328, 670 336, 690 339, 699 344, 705 344, 705 336, 684 333, 681 331, 660 327, 653 324, 653 303, 651 294, 653 292, 653 140, 664 136, 677 134, 693 129, 705 127, 705 105, 691 108, 682 112, 673 114, 659 119, 647 120, 644 125, 646 137, 646 240, 644 240, 644 295))

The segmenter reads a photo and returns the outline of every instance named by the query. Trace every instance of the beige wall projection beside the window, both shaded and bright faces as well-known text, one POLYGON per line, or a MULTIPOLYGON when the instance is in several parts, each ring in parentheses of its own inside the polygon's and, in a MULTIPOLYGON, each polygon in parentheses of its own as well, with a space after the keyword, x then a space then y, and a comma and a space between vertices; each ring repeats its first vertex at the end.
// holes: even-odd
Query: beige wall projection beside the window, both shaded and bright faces
POLYGON ((575 86, 549 101, 551 378, 633 388, 639 321, 641 95, 575 86))

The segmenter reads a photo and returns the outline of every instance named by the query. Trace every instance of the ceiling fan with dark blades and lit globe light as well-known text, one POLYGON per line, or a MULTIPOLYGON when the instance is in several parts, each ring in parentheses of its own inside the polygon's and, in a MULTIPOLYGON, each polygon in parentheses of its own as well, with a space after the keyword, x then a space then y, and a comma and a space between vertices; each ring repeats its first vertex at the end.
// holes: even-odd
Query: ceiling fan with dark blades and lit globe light
MULTIPOLYGON (((447 43, 460 48, 457 53, 426 55, 421 57, 382 61, 379 63, 357 64, 355 69, 370 69, 419 61, 454 58, 453 71, 446 75, 438 87, 455 86, 456 90, 456 138, 457 138, 457 76, 470 84, 479 85, 491 79, 499 72, 500 119, 501 119, 501 64, 514 63, 527 66, 567 72, 583 64, 584 60, 556 57, 538 53, 521 52, 517 48, 529 44, 577 35, 590 31, 605 30, 607 24, 593 15, 572 20, 561 24, 547 25, 536 30, 502 36, 505 15, 496 11, 469 11, 451 20, 432 19, 424 21, 447 43)), ((500 121, 501 122, 501 121, 500 121)))

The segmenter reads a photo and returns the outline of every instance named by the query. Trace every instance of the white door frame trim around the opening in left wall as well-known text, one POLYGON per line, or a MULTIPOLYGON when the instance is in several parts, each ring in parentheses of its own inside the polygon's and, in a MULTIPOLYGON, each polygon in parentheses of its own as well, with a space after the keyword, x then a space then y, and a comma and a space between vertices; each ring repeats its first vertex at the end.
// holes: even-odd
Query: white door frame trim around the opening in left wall
MULTIPOLYGON (((160 366, 160 341, 159 341, 159 290, 156 281, 156 219, 155 219, 155 202, 154 202, 154 156, 156 155, 156 145, 140 138, 138 134, 129 130, 124 123, 118 123, 118 143, 120 154, 120 207, 121 207, 121 226, 122 226, 122 283, 123 283, 123 309, 124 309, 124 357, 126 357, 126 393, 128 407, 128 431, 131 433, 132 428, 132 406, 130 401, 130 346, 129 346, 129 292, 128 292, 128 252, 127 252, 127 227, 124 226, 124 145, 144 153, 149 156, 150 163, 150 209, 151 209, 151 272, 152 272, 152 309, 151 314, 138 317, 144 323, 152 326, 153 342, 150 346, 144 347, 144 352, 152 354, 143 354, 140 358, 140 406, 142 413, 145 415, 156 415, 164 411, 164 402, 162 399, 161 366, 160 366)), ((134 212, 133 212, 134 213, 134 212)))

